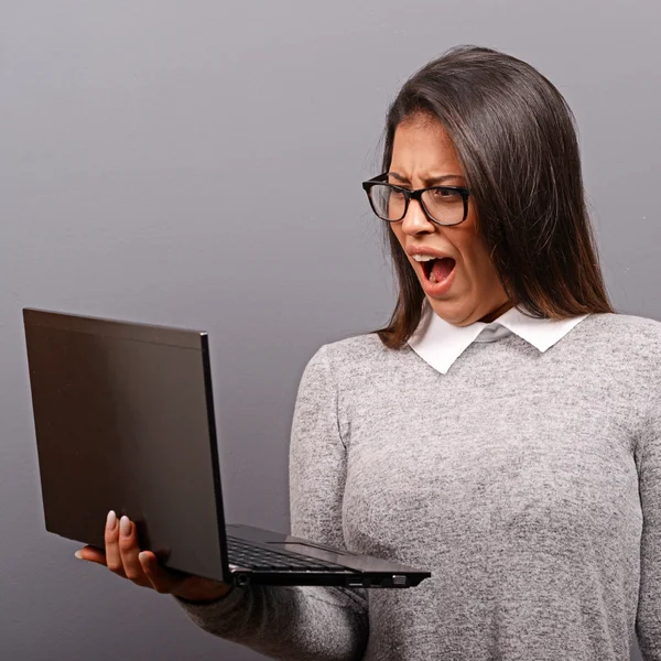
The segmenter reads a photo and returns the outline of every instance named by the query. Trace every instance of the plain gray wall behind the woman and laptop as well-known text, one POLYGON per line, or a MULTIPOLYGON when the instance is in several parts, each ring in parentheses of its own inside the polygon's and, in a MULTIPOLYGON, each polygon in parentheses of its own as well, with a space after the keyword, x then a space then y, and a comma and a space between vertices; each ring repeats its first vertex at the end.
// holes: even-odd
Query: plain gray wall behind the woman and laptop
POLYGON ((360 181, 398 86, 446 47, 501 48, 559 86, 615 304, 661 318, 658 0, 0 11, 3 659, 258 658, 44 532, 20 310, 208 329, 229 519, 286 530, 303 367, 393 303, 360 181))

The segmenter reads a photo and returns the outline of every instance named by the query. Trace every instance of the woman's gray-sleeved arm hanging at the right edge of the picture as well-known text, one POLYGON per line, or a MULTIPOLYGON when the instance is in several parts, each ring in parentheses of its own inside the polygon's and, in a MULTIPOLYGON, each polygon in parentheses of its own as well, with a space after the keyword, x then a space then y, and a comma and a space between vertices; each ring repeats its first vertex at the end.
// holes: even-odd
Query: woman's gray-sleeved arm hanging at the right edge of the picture
POLYGON ((661 402, 654 398, 636 448, 642 508, 636 633, 646 661, 661 661, 661 402))

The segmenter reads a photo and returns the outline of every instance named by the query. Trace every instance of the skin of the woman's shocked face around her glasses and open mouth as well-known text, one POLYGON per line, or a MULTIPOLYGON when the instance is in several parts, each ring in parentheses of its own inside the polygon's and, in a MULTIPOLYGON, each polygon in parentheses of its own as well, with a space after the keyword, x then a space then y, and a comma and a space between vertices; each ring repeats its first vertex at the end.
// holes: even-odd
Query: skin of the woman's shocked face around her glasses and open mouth
MULTIPOLYGON (((441 183, 465 186, 463 174, 454 145, 438 120, 415 116, 398 126, 389 183, 405 188, 424 188, 441 183)), ((488 250, 477 234, 472 197, 468 197, 468 216, 459 225, 438 226, 427 219, 416 201, 411 201, 404 218, 392 223, 391 228, 432 308, 446 322, 457 326, 478 321, 488 323, 511 307, 488 250), (410 252, 413 248, 429 249, 432 254, 441 252, 455 260, 454 271, 444 285, 430 282, 425 262, 415 261, 410 252)))

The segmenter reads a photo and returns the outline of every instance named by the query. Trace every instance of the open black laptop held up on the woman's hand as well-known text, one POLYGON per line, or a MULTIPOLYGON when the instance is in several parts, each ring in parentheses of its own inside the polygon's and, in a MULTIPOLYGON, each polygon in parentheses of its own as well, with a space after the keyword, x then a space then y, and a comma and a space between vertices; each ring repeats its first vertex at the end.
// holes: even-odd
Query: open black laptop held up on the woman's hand
POLYGON ((402 588, 430 572, 226 524, 206 333, 24 308, 48 532, 105 548, 109 510, 171 568, 230 585, 402 588))

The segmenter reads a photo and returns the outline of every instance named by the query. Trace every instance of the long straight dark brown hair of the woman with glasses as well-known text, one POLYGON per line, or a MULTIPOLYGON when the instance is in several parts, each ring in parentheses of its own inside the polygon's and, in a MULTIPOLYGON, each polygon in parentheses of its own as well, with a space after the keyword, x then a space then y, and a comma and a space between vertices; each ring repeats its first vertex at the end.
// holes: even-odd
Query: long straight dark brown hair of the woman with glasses
MULTIPOLYGON (((531 65, 491 48, 458 46, 402 87, 387 115, 383 170, 397 127, 422 113, 451 137, 470 188, 477 231, 509 300, 535 318, 615 312, 585 205, 572 110, 531 65)), ((375 330, 401 348, 420 323, 424 292, 383 224, 399 296, 375 330)))

